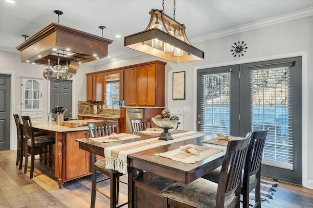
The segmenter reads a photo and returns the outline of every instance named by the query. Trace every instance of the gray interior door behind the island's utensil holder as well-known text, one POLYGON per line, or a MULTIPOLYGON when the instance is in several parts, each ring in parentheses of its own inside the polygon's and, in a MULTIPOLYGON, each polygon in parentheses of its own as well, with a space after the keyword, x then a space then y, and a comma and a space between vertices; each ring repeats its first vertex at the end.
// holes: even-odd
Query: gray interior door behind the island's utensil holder
MULTIPOLYGON (((72 116, 72 81, 53 80, 50 87, 50 110, 62 105, 67 109, 64 118, 72 116)), ((55 115, 53 115, 54 117, 55 115)))

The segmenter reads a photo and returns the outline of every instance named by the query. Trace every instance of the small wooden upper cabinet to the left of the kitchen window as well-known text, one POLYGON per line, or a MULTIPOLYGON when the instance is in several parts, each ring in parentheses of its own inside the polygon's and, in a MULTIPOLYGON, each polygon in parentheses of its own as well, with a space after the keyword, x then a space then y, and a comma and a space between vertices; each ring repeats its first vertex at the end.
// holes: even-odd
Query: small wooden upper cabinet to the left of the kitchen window
POLYGON ((104 75, 87 75, 87 96, 88 101, 104 100, 104 75))

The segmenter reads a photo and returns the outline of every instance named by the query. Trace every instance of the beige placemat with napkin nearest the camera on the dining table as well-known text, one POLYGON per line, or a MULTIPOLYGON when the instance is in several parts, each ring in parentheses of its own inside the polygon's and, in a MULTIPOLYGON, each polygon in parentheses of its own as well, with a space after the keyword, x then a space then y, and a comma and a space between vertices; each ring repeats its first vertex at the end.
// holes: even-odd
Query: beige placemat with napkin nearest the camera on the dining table
POLYGON ((157 153, 155 155, 166 157, 166 158, 183 162, 183 163, 196 163, 210 156, 213 156, 214 154, 224 151, 218 148, 199 146, 199 145, 188 145, 188 146, 192 147, 196 152, 198 152, 199 155, 183 151, 181 147, 184 147, 184 146, 181 146, 180 148, 175 149, 175 150, 157 153))

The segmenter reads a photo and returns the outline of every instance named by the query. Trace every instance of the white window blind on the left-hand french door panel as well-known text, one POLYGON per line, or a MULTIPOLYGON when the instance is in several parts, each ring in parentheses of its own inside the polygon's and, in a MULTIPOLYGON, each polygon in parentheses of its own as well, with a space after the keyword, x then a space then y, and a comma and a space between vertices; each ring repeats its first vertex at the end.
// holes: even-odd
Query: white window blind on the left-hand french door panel
POLYGON ((230 131, 230 73, 201 76, 201 132, 230 131))

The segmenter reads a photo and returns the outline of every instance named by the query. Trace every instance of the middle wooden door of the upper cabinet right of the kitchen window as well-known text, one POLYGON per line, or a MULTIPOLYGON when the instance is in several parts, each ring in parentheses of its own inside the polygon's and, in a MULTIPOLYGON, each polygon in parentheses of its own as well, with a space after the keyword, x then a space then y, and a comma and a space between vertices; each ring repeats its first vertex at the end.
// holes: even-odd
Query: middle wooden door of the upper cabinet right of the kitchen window
POLYGON ((137 105, 145 106, 147 98, 147 66, 137 67, 137 105))

